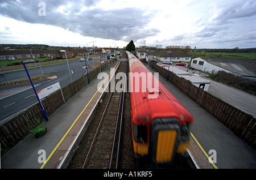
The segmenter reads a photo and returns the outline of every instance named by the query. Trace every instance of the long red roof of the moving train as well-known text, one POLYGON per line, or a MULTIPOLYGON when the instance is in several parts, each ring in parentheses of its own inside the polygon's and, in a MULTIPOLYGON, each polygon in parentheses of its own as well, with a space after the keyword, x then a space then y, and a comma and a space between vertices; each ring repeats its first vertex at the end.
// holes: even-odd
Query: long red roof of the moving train
POLYGON ((150 123, 156 117, 176 117, 186 122, 192 115, 136 57, 129 59, 131 108, 136 121, 150 123), (145 117, 149 117, 150 121, 145 117))

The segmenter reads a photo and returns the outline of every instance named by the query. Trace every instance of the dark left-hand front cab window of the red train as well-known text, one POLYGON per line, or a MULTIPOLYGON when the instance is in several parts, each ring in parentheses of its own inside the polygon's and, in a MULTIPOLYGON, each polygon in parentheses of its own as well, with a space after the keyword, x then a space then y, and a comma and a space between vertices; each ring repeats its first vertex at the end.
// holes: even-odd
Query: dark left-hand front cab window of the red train
POLYGON ((138 143, 147 143, 147 126, 133 123, 133 138, 138 143))

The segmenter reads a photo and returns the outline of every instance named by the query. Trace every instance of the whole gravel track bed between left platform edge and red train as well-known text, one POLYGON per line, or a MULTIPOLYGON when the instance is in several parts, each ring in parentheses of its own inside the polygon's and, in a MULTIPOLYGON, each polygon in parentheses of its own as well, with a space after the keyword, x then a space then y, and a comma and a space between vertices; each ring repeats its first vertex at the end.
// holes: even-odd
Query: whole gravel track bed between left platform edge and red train
MULTIPOLYGON (((125 67, 126 62, 120 63, 116 72, 124 72, 125 67)), ((116 80, 115 83, 117 82, 119 81, 116 80)), ((109 85, 110 87, 112 88, 109 85)), ((117 149, 119 149, 118 142, 120 142, 118 139, 121 140, 118 136, 121 113, 123 112, 122 100, 123 92, 117 92, 115 89, 105 92, 97 113, 90 122, 88 131, 85 132, 68 168, 115 168, 117 149)))

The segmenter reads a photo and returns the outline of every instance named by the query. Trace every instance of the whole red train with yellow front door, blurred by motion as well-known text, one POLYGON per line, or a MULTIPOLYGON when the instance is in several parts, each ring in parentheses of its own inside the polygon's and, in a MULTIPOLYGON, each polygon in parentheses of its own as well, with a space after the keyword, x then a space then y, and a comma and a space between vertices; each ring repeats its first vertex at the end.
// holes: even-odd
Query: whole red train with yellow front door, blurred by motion
POLYGON ((138 58, 126 53, 135 157, 151 168, 171 167, 187 156, 193 117, 138 58))

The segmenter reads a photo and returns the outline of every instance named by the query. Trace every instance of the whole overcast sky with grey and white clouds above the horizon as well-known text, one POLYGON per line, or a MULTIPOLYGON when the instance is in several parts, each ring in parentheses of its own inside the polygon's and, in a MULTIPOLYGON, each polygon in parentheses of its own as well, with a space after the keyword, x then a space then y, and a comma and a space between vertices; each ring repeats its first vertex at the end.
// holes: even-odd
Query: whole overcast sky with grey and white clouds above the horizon
POLYGON ((256 47, 255 0, 0 0, 0 44, 256 47))

